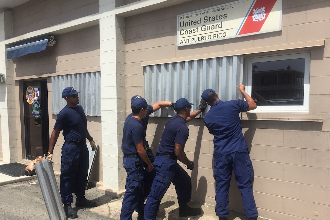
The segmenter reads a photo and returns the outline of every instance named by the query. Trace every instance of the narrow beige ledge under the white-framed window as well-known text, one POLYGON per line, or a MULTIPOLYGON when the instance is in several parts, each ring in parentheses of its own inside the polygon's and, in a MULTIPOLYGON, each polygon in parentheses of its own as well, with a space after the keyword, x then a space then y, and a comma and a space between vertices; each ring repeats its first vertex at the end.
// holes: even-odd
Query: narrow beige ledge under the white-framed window
POLYGON ((260 114, 260 113, 242 113, 242 120, 263 120, 263 121, 298 121, 298 122, 323 122, 323 117, 307 116, 305 114, 260 114))

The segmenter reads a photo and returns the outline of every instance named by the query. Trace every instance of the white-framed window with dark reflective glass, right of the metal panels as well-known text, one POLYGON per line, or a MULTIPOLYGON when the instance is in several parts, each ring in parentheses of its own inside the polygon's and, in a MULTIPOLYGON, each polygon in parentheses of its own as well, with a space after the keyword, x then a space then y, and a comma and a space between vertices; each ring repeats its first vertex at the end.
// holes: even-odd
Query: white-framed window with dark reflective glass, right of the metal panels
POLYGON ((308 112, 310 53, 248 58, 246 72, 256 111, 308 112))

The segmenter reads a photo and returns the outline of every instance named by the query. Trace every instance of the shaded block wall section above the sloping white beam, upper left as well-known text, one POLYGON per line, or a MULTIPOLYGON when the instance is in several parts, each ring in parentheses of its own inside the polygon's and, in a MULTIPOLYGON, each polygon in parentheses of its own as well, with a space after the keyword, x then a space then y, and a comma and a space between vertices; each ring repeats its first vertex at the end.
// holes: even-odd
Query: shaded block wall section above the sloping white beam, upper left
POLYGON ((13 37, 99 12, 99 1, 28 1, 13 8, 13 37))

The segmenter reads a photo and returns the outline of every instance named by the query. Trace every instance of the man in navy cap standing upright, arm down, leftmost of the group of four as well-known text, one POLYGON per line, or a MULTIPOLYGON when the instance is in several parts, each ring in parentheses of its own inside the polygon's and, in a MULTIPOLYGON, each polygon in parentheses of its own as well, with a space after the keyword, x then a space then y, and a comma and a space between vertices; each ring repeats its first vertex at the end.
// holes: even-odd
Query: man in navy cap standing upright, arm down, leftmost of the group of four
POLYGON ((144 170, 153 170, 145 150, 145 129, 141 120, 146 117, 149 106, 142 97, 132 101, 133 115, 127 117, 123 128, 121 150, 124 153, 123 166, 127 176, 125 195, 121 205, 120 220, 131 220, 134 210, 138 213, 138 220, 144 219, 144 170))

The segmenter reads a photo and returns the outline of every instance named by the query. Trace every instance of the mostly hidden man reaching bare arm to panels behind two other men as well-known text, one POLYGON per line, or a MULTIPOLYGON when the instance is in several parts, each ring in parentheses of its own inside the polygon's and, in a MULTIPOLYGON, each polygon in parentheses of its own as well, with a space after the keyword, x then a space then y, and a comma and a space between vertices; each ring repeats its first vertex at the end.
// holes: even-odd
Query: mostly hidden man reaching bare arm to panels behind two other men
MULTIPOLYGON (((137 98, 142 98, 140 95, 134 95, 131 98, 131 104, 133 104, 133 101, 137 98)), ((168 101, 160 101, 160 102, 156 102, 152 105, 148 105, 149 109, 147 111, 147 115, 146 117, 144 117, 143 119, 141 119, 141 123, 143 128, 145 129, 145 134, 147 133, 147 126, 148 126, 148 122, 149 122, 149 115, 155 111, 158 111, 160 108, 165 108, 165 107, 174 107, 174 103, 172 102, 168 102, 168 101)), ((133 116, 133 112, 131 114, 129 114, 127 116, 127 118, 132 117, 133 116)), ((127 119, 126 118, 126 119, 127 119)), ((149 147, 149 143, 147 140, 145 140, 145 149, 148 155, 149 160, 151 161, 151 163, 154 162, 155 157, 152 153, 152 147, 149 147)), ((148 170, 145 170, 145 176, 144 176, 144 197, 146 198, 151 190, 151 185, 152 185, 152 181, 155 178, 156 175, 156 170, 152 170, 151 172, 149 172, 148 170)))

